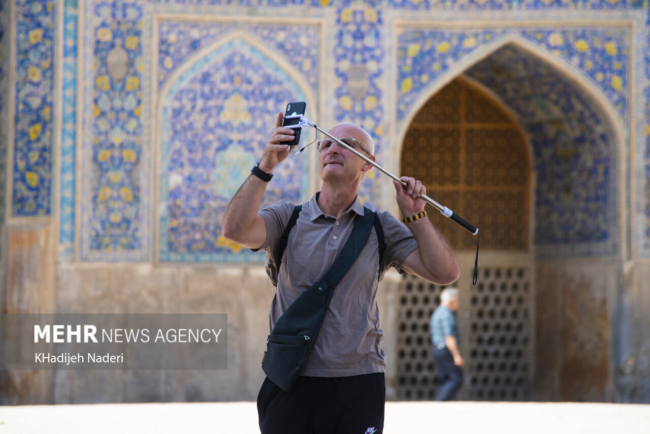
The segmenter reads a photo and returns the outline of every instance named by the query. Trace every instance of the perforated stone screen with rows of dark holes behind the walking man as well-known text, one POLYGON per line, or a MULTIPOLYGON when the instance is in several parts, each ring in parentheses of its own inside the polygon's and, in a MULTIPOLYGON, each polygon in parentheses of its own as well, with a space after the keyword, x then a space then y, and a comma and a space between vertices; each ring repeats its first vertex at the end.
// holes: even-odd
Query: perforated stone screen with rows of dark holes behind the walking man
MULTIPOLYGON (((530 387, 530 272, 526 267, 483 267, 463 293, 457 312, 463 387, 457 399, 521 401, 530 387)), ((456 286, 456 285, 454 285, 456 286)), ((434 400, 438 372, 429 322, 445 286, 404 275, 397 336, 397 397, 434 400)))

